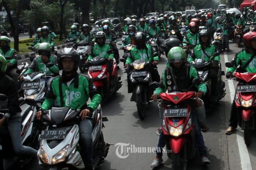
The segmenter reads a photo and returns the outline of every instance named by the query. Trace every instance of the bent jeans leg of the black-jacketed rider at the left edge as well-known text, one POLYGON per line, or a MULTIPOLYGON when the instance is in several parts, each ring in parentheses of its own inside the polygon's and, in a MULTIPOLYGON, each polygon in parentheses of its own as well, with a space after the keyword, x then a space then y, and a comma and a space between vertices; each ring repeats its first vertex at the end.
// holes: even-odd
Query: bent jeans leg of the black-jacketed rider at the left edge
POLYGON ((21 117, 11 117, 9 121, 7 122, 8 131, 11 136, 12 140, 12 146, 14 148, 14 151, 18 155, 31 155, 36 156, 37 150, 23 146, 21 141, 21 117))

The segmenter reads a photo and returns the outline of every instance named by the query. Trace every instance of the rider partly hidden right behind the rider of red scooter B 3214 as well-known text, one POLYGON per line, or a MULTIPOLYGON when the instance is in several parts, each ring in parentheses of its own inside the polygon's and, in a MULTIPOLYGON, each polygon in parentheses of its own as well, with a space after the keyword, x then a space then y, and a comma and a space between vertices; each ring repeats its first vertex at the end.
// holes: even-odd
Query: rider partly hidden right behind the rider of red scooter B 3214
POLYGON ((106 34, 106 44, 109 44, 114 52, 114 58, 116 59, 116 62, 119 63, 119 52, 116 46, 116 36, 113 33, 110 33, 110 28, 107 25, 103 26, 103 32, 106 34))

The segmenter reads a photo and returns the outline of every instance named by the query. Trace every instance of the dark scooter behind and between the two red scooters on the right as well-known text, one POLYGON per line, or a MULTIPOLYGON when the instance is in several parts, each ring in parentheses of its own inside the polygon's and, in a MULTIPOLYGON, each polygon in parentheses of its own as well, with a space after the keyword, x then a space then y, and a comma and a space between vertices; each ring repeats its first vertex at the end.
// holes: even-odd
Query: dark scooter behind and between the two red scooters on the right
POLYGON ((215 56, 218 56, 219 53, 214 53, 212 55, 212 57, 210 57, 209 61, 205 61, 202 59, 196 59, 195 61, 193 61, 191 63, 191 65, 193 67, 196 68, 199 77, 202 78, 202 80, 204 81, 204 83, 206 84, 207 87, 207 92, 206 95, 204 96, 203 100, 205 103, 205 107, 208 108, 209 110, 214 106, 215 103, 218 103, 224 96, 225 96, 225 82, 223 82, 221 80, 221 76, 225 75, 224 72, 221 71, 221 63, 219 62, 219 70, 218 70, 218 86, 214 87, 214 89, 212 89, 212 82, 211 79, 208 78, 208 72, 209 72, 209 68, 211 67, 211 60, 212 58, 214 58, 215 56), (212 91, 216 90, 215 95, 212 95, 212 91))

